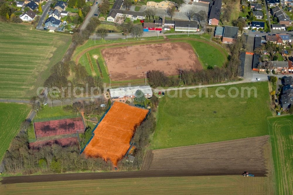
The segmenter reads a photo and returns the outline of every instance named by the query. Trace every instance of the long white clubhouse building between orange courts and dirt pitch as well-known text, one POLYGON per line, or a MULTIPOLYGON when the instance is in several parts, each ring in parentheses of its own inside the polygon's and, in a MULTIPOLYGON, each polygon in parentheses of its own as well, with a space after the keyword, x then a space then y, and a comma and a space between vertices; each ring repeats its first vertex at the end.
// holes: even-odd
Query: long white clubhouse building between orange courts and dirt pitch
POLYGON ((153 92, 149 85, 114 88, 109 89, 109 93, 112 101, 125 101, 125 99, 127 100, 128 98, 135 98, 135 92, 137 90, 141 90, 146 98, 151 98, 151 96, 153 96, 153 92))

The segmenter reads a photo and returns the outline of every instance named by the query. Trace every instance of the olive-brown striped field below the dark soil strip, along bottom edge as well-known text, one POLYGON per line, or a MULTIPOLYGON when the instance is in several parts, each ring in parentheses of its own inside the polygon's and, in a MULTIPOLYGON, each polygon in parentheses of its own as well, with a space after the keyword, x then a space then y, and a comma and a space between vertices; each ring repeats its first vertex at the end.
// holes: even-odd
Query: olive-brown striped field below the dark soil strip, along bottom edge
POLYGON ((0 184, 4 194, 271 194, 268 177, 202 176, 0 184))

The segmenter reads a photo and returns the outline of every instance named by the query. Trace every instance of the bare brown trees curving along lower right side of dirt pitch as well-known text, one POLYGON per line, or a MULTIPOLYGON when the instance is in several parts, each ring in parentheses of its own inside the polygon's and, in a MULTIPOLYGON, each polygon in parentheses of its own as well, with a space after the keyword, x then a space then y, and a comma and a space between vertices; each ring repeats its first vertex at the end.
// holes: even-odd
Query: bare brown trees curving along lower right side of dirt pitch
MULTIPOLYGON (((240 64, 239 52, 246 47, 245 42, 240 37, 236 43, 230 45, 231 55, 229 62, 222 68, 209 66, 208 69, 202 70, 182 70, 181 80, 185 85, 197 85, 220 83, 225 80, 233 80, 238 76, 238 68, 240 64)), ((179 76, 180 72, 178 72, 179 76)), ((163 71, 148 71, 147 77, 149 83, 154 88, 165 86, 178 86, 179 81, 174 77, 167 77, 163 71)))

